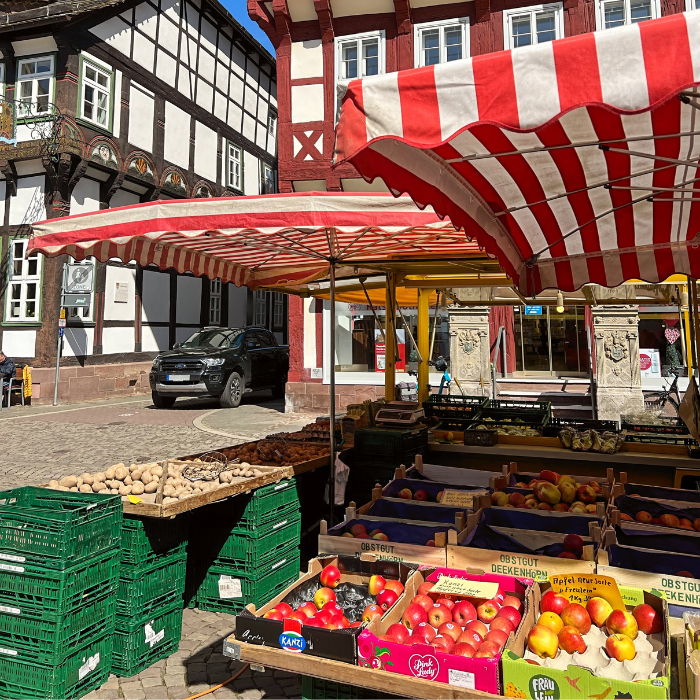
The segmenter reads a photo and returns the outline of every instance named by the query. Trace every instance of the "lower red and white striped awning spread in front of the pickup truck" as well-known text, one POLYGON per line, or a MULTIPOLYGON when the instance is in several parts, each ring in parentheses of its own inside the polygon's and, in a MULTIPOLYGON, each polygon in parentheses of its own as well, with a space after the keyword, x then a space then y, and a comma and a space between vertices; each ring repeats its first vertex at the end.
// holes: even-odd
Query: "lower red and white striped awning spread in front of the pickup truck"
MULTIPOLYGON (((409 197, 299 194, 169 200, 34 224, 29 251, 136 260, 224 282, 302 284, 331 262, 459 259, 479 254, 448 220, 409 197)), ((483 257, 483 253, 481 254, 483 257)))

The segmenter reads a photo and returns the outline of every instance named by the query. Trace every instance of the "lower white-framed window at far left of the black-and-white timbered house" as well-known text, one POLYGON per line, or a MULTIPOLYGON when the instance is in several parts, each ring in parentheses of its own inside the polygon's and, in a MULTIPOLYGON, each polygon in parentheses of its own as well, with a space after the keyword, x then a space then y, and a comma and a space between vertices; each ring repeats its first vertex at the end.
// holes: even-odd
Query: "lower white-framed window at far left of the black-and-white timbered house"
POLYGON ((9 281, 5 320, 11 323, 40 319, 42 258, 32 253, 25 260, 28 238, 10 241, 9 281))

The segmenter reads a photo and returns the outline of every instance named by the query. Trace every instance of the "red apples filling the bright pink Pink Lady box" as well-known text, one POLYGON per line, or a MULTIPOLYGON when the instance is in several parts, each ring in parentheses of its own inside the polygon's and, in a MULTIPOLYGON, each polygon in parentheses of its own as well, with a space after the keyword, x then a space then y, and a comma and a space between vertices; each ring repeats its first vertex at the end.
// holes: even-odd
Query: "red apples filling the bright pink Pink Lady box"
POLYGON ((403 612, 379 639, 413 646, 430 645, 443 654, 495 659, 522 616, 522 602, 500 588, 478 607, 454 595, 431 593, 429 581, 418 587, 403 612))

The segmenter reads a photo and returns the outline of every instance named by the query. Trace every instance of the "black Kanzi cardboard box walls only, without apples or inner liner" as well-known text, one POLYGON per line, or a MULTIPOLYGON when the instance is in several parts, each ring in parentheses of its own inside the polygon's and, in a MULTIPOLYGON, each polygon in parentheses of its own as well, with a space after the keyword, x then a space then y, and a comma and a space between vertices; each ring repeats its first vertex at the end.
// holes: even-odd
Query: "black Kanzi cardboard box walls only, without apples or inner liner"
MULTIPOLYGON (((397 579, 406 585, 413 573, 413 569, 403 564, 387 564, 378 561, 376 557, 318 557, 309 562, 309 570, 295 581, 289 588, 266 603, 259 610, 255 605, 248 605, 243 612, 236 615, 236 639, 248 644, 259 644, 285 649, 290 653, 302 653, 309 656, 320 656, 325 659, 344 661, 345 663, 357 663, 357 638, 363 629, 373 629, 377 621, 366 623, 363 627, 351 627, 347 629, 327 630, 318 627, 302 626, 301 632, 296 635, 299 640, 296 645, 288 644, 289 635, 285 633, 285 623, 278 620, 265 619, 263 615, 272 610, 275 605, 285 601, 295 590, 306 582, 317 580, 324 567, 333 564, 341 571, 340 582, 349 582, 356 585, 367 585, 374 574, 380 574, 384 578, 397 579), (300 641, 303 639, 303 642, 300 641), (284 641, 284 644, 283 644, 284 641)), ((318 588, 321 588, 318 582, 318 588)), ((395 603, 399 605, 403 596, 395 603)), ((391 609, 390 609, 391 610, 391 609)), ((351 620, 352 622, 352 620, 351 620)), ((294 635, 292 635, 294 636, 294 635)))

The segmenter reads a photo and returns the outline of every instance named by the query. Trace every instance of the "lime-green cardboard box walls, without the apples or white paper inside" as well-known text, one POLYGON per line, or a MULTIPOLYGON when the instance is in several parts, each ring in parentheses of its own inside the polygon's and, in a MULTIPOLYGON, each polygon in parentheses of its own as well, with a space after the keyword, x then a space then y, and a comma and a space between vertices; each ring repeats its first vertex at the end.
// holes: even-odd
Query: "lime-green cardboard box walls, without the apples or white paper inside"
MULTIPOLYGON (((658 678, 645 681, 621 681, 596 676, 581 666, 569 666, 565 671, 535 666, 523 659, 527 648, 527 636, 539 617, 540 600, 550 589, 549 583, 535 583, 533 587, 533 615, 527 623, 520 625, 507 651, 501 656, 503 686, 506 697, 545 700, 551 698, 640 698, 643 700, 666 700, 671 685, 671 643, 668 630, 668 606, 659 595, 639 591, 643 602, 651 605, 665 620, 663 635, 664 668, 658 678)), ((628 606, 632 610, 633 606, 628 606)))

